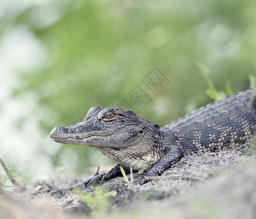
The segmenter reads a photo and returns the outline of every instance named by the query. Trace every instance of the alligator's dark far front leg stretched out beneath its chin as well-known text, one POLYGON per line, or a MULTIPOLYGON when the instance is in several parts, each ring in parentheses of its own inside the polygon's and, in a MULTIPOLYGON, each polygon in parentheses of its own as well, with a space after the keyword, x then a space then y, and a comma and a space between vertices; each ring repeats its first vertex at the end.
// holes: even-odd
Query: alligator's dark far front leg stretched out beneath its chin
POLYGON ((111 168, 108 172, 97 174, 95 177, 92 177, 89 180, 86 180, 81 186, 82 187, 88 187, 94 183, 103 183, 107 180, 113 179, 114 177, 121 177, 121 169, 120 166, 125 169, 125 171, 129 171, 129 167, 125 166, 124 164, 115 164, 113 168, 111 168))

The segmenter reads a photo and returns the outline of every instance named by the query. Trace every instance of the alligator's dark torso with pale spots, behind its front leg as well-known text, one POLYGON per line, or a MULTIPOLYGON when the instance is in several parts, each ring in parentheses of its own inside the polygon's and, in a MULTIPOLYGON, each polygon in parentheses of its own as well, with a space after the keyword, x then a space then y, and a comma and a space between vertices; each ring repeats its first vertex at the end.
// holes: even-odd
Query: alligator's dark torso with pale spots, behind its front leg
POLYGON ((243 145, 256 126, 255 90, 249 89, 208 104, 162 128, 185 153, 243 145))

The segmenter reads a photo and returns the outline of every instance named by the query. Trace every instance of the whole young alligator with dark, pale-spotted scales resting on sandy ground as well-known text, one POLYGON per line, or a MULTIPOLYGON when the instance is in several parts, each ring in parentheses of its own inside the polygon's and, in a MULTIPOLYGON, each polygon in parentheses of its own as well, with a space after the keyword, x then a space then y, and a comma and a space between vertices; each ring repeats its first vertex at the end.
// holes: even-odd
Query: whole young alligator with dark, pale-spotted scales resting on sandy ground
POLYGON ((227 96, 159 128, 131 110, 91 107, 80 123, 56 126, 50 137, 62 144, 94 146, 121 162, 84 185, 109 180, 120 166, 144 169, 138 183, 162 174, 184 155, 234 148, 252 139, 256 127, 256 90, 227 96))

